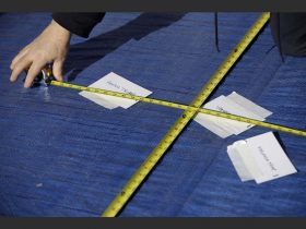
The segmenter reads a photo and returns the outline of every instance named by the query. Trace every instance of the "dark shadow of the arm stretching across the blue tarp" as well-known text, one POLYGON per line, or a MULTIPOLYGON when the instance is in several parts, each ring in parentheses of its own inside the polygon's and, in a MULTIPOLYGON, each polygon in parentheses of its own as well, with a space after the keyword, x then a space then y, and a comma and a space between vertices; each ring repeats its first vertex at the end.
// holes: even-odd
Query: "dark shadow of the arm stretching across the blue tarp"
POLYGON ((142 13, 116 29, 72 45, 64 64, 64 73, 70 72, 68 82, 73 81, 82 70, 115 51, 131 38, 139 40, 150 33, 179 21, 184 15, 185 13, 142 13))

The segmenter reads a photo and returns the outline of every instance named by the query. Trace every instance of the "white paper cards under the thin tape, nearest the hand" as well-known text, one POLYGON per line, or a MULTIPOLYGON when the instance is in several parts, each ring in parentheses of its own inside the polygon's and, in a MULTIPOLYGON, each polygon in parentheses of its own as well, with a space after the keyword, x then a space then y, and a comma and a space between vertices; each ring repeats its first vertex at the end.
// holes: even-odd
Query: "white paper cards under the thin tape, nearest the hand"
MULTIPOLYGON (((90 85, 90 87, 113 91, 117 93, 125 93, 130 95, 137 95, 142 97, 146 97, 152 94, 152 92, 150 92, 149 89, 145 89, 114 72, 110 72, 109 74, 94 82, 93 84, 90 85)), ((81 92, 79 94, 108 109, 114 109, 117 107, 122 107, 127 109, 132 105, 134 105, 136 103, 138 103, 137 100, 132 100, 128 98, 119 98, 119 97, 102 95, 97 93, 81 92)))

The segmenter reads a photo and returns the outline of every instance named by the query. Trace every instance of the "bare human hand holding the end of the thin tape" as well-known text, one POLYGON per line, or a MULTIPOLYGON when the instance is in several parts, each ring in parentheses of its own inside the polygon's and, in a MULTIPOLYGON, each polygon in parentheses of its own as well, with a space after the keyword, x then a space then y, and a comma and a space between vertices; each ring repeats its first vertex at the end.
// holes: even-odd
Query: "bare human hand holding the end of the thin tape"
POLYGON ((30 45, 24 47, 11 63, 11 82, 27 70, 24 87, 31 87, 47 63, 52 62, 52 73, 56 80, 63 81, 62 69, 69 50, 71 33, 54 20, 30 45))

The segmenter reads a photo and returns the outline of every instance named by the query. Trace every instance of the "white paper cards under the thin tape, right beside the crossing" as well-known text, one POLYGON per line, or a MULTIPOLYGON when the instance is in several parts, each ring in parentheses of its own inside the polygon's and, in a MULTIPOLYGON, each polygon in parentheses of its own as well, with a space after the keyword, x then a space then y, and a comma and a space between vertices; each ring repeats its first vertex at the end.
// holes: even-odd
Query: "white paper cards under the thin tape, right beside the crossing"
MULTIPOLYGON (((269 110, 256 105, 255 103, 235 92, 233 92, 228 96, 222 95, 207 103, 203 108, 256 119, 259 121, 263 121, 268 116, 272 114, 272 112, 270 112, 269 110)), ((221 136, 222 138, 225 138, 232 134, 240 134, 254 126, 249 123, 212 117, 204 113, 197 114, 195 117, 195 121, 197 121, 211 132, 215 133, 216 135, 221 136)))

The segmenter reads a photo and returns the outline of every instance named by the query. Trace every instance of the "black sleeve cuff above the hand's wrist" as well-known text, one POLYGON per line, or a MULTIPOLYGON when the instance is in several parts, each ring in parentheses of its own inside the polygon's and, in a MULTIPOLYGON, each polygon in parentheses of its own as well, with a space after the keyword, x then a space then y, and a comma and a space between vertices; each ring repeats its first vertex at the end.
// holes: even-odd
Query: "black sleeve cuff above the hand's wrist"
POLYGON ((87 38, 105 13, 52 13, 52 19, 66 29, 87 38))

